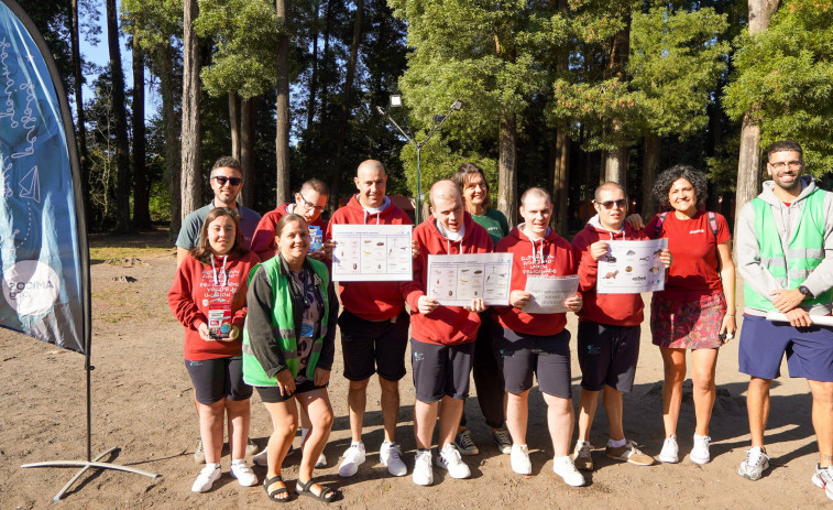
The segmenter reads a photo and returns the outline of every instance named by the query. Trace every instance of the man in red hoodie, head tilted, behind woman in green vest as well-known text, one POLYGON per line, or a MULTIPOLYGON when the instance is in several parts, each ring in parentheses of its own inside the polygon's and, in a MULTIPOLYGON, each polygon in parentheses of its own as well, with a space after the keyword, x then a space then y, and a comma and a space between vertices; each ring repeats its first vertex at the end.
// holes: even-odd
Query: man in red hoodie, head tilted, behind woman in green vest
MULTIPOLYGON (((277 225, 277 220, 282 216, 289 213, 303 216, 307 220, 310 230, 317 229, 318 234, 324 236, 327 231, 327 221, 321 219, 321 213, 327 207, 327 199, 329 197, 330 189, 324 181, 310 178, 302 184, 300 191, 295 194, 294 204, 287 202, 263 215, 252 238, 252 251, 257 253, 257 257, 264 262, 275 256, 275 250, 277 249, 277 245, 275 243, 275 225, 277 225)), ((320 248, 314 250, 310 246, 308 254, 316 260, 322 261, 325 259, 324 251, 320 248)))

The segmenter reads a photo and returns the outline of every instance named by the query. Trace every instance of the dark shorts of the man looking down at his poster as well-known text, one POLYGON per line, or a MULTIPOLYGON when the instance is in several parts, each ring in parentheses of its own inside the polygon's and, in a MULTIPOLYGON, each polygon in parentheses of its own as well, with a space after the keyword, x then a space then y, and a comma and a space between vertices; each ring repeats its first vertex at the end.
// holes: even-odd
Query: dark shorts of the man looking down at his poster
POLYGON ((439 402, 443 397, 459 400, 469 397, 473 355, 473 341, 437 345, 412 338, 410 361, 417 400, 431 403, 439 402))

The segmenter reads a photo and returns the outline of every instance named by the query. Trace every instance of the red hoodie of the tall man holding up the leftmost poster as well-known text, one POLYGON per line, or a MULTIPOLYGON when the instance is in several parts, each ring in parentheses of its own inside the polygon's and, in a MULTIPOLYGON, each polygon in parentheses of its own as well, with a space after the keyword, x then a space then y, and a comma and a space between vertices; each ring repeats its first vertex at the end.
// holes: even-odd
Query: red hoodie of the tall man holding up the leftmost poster
MULTIPOLYGON (((333 225, 412 225, 412 221, 393 203, 380 213, 368 213, 354 195, 332 214, 325 239, 332 238, 333 225)), ((399 282, 339 282, 339 295, 341 306, 365 321, 386 321, 405 310, 399 282)))

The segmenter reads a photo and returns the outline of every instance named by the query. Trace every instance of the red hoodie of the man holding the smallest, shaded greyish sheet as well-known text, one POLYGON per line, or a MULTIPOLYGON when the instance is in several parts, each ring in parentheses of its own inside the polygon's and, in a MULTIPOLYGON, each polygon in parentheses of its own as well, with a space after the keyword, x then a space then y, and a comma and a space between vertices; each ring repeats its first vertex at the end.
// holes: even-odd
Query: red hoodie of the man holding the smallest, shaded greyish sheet
MULTIPOLYGON (((501 239, 497 250, 514 253, 512 259, 512 290, 526 289, 527 276, 569 276, 576 274, 578 261, 572 246, 566 239, 549 229, 544 239, 533 240, 520 229, 524 224, 513 228, 508 236, 501 239)), ((501 326, 526 335, 551 336, 560 333, 567 325, 567 314, 527 314, 514 306, 496 306, 497 321, 501 326)))

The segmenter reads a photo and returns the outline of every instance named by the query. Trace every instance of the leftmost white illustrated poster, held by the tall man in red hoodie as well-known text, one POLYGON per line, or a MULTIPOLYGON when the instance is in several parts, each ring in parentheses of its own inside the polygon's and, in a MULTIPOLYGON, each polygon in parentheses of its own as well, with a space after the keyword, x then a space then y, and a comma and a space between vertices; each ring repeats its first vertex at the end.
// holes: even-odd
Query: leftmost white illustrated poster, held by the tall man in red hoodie
POLYGON ((414 273, 410 225, 333 225, 332 279, 402 282, 414 273))

